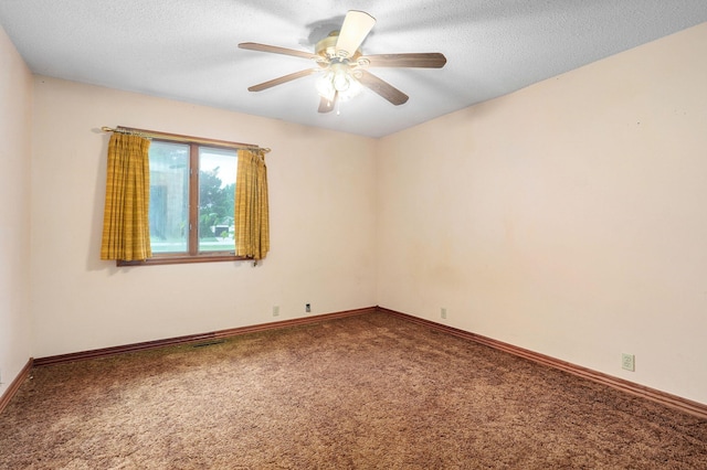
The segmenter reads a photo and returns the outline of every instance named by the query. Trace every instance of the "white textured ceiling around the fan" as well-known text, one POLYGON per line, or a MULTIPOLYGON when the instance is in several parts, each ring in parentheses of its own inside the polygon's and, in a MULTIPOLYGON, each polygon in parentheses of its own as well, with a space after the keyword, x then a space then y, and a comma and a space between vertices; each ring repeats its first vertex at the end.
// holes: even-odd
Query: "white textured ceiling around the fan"
POLYGON ((36 74, 371 137, 705 21, 706 0, 0 0, 0 24, 36 74), (447 64, 371 70, 410 100, 365 90, 338 116, 317 113, 315 76, 247 92, 312 63, 240 42, 312 51, 348 10, 378 20, 365 54, 442 52, 447 64))

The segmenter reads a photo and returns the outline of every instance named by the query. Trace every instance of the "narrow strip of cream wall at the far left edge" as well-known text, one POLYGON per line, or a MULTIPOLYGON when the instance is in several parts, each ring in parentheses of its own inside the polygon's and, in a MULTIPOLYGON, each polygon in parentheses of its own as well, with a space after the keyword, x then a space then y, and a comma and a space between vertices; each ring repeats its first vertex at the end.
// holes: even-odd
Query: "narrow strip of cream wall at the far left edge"
POLYGON ((32 75, 0 28, 0 396, 28 363, 32 75))

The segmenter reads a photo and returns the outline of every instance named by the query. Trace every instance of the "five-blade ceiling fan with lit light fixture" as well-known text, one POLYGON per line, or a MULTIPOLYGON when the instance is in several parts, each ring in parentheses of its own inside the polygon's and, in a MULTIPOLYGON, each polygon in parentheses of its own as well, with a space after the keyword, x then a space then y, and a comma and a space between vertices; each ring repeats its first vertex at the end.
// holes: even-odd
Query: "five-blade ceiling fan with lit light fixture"
POLYGON ((367 87, 395 106, 408 102, 408 95, 388 82, 368 72, 370 67, 422 67, 442 68, 446 57, 439 52, 362 55, 361 43, 373 29, 376 19, 363 11, 350 10, 346 13, 340 31, 331 32, 315 45, 315 52, 304 52, 275 45, 243 42, 241 49, 294 55, 316 62, 317 67, 307 68, 263 82, 249 87, 249 92, 262 92, 313 74, 321 74, 317 79, 319 113, 329 113, 338 102, 351 99, 362 87, 367 87))

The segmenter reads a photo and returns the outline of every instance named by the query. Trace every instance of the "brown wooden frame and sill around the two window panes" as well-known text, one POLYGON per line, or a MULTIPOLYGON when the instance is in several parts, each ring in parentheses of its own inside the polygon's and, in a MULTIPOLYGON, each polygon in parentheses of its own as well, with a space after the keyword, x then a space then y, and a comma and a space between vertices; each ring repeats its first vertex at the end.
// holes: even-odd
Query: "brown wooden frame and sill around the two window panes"
MULTIPOLYGON (((201 137, 182 136, 178 133, 158 132, 145 129, 118 127, 117 130, 138 133, 152 141, 189 145, 189 236, 187 237, 187 253, 157 253, 143 260, 116 260, 117 266, 156 266, 180 265, 191 263, 217 261, 247 261, 252 257, 236 256, 235 246, 232 250, 199 252, 199 148, 210 147, 236 151, 243 148, 260 148, 255 145, 231 142, 226 140, 207 139, 201 137), (196 171, 194 171, 196 170, 196 171)), ((267 151, 268 149, 264 149, 267 151)))

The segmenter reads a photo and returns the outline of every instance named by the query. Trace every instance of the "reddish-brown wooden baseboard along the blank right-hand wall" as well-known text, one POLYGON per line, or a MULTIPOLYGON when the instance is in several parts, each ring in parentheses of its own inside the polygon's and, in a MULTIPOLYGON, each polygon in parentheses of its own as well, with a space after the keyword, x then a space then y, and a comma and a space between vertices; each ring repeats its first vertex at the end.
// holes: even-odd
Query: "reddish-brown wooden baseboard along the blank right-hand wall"
POLYGON ((429 327, 435 331, 445 332, 458 338, 463 338, 481 344, 485 344, 496 350, 500 350, 500 351, 517 355, 519 357, 525 357, 527 360, 530 360, 540 364, 545 364, 550 367, 559 368, 560 371, 569 372, 570 374, 588 378, 592 382, 608 385, 612 388, 616 388, 632 395, 637 395, 646 399, 650 399, 652 402, 659 403, 664 406, 678 409, 680 412, 688 413, 690 415, 707 419, 707 405, 698 402, 693 402, 687 398, 679 397, 677 395, 672 395, 665 392, 661 392, 658 389, 646 387, 644 385, 640 385, 623 378, 614 377, 612 375, 604 374, 602 372, 592 371, 591 368, 582 367, 580 365, 572 364, 566 361, 560 361, 559 359, 555 359, 555 357, 540 354, 530 350, 526 350, 523 348, 514 346, 513 344, 493 340, 490 338, 483 337, 481 334, 471 333, 468 331, 464 331, 453 327, 447 327, 445 324, 436 323, 434 321, 421 319, 418 317, 413 317, 407 313, 401 313, 401 312, 386 309, 382 307, 378 307, 378 311, 403 318, 413 323, 429 327))

